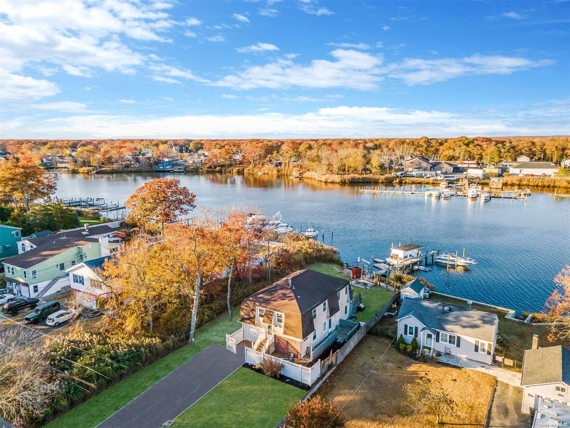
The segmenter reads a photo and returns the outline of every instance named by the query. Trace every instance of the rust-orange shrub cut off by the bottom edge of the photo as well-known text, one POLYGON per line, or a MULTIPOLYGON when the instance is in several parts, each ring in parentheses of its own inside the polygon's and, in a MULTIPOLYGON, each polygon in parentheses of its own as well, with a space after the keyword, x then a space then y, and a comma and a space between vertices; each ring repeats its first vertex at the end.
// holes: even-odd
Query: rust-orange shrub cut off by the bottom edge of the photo
POLYGON ((285 425, 292 428, 340 428, 345 422, 331 401, 315 395, 296 403, 287 413, 285 425))

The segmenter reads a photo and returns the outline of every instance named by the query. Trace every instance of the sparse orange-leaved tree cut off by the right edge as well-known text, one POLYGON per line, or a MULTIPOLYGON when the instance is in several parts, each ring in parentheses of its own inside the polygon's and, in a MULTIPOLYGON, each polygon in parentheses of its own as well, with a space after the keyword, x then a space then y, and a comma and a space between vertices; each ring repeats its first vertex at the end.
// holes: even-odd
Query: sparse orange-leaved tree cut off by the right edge
POLYGON ((562 268, 554 282, 556 288, 545 304, 554 322, 550 326, 548 340, 570 342, 570 265, 562 268))

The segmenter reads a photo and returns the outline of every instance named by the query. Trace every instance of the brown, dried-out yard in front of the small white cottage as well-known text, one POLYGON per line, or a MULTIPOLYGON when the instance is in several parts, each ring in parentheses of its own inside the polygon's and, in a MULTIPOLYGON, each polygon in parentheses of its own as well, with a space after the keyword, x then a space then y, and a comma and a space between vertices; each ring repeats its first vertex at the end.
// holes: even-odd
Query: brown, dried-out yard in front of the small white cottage
POLYGON ((484 424, 494 377, 475 370, 418 363, 396 352, 390 341, 381 337, 365 336, 317 393, 331 399, 339 409, 344 406, 343 414, 351 419, 347 428, 434 426, 435 415, 406 414, 402 388, 406 383, 420 382, 422 377, 431 381, 434 391, 443 390, 455 401, 453 412, 440 415, 447 427, 484 424))

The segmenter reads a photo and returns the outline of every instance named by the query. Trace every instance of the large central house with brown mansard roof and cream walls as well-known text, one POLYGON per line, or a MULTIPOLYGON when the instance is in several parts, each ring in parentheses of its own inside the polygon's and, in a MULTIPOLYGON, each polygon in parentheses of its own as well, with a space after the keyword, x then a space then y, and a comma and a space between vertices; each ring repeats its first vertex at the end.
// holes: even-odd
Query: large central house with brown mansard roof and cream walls
POLYGON ((347 280, 299 270, 242 301, 243 338, 263 344, 273 336, 275 352, 306 356, 350 316, 351 296, 347 280))

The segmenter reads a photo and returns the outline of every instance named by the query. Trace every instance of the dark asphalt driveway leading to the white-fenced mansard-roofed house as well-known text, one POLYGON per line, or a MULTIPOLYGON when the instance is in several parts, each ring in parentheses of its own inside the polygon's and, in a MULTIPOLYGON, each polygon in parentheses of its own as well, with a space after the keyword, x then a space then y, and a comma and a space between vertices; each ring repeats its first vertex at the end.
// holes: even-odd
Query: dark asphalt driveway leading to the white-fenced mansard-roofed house
POLYGON ((234 354, 211 344, 96 428, 159 428, 192 406, 244 361, 243 348, 234 354))

